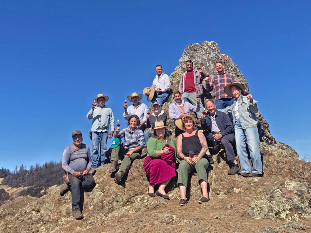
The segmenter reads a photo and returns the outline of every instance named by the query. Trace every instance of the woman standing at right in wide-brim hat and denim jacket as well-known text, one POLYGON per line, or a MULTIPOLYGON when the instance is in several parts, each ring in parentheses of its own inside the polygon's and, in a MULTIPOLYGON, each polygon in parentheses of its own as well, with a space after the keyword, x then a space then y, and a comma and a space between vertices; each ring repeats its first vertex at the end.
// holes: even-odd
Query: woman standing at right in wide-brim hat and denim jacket
POLYGON ((256 113, 258 112, 257 101, 251 94, 244 94, 245 86, 239 83, 231 83, 225 86, 225 93, 234 98, 231 106, 219 111, 232 113, 236 149, 239 156, 241 175, 244 177, 262 176, 262 160, 260 155, 259 134, 257 128, 256 113), (253 168, 248 160, 246 150, 247 141, 249 156, 253 168))

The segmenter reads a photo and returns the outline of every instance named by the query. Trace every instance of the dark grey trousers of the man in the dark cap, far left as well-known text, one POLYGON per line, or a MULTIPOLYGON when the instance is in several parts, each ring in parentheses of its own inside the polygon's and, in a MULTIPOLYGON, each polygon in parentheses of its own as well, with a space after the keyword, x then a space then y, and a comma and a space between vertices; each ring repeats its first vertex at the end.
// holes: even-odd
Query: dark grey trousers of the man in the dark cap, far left
POLYGON ((83 210, 84 192, 91 192, 96 183, 92 174, 84 175, 81 178, 77 178, 74 175, 69 174, 68 186, 71 192, 71 204, 72 210, 83 210))

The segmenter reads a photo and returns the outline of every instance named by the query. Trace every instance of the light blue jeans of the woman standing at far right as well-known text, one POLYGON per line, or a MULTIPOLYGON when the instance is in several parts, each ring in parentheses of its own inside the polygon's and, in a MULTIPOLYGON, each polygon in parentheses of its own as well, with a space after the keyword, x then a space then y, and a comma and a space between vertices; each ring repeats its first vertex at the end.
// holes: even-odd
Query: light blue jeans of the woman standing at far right
POLYGON ((260 143, 258 128, 252 127, 248 129, 242 129, 240 119, 235 120, 235 142, 236 142, 236 151, 239 156, 239 161, 241 165, 241 171, 246 173, 257 173, 262 174, 262 162, 260 156, 260 143), (246 142, 248 145, 249 156, 251 157, 253 163, 253 169, 249 164, 248 155, 246 151, 246 142))

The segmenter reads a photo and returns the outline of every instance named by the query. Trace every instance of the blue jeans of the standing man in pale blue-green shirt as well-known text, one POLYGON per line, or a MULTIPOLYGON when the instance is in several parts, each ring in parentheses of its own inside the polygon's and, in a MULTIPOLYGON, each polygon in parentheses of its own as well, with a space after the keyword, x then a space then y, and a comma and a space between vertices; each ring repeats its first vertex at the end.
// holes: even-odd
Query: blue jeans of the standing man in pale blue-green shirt
POLYGON ((92 167, 104 165, 107 151, 108 131, 92 132, 92 167))

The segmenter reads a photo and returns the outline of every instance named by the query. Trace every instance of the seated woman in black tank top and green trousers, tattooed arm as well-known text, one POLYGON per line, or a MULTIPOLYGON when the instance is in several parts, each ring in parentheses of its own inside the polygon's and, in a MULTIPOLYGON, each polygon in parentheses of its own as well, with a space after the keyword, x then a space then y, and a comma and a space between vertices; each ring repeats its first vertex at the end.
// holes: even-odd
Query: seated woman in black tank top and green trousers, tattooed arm
POLYGON ((181 199, 179 205, 187 203, 186 191, 188 175, 191 171, 197 171, 197 177, 202 189, 202 198, 199 203, 209 201, 207 192, 207 172, 208 161, 206 157, 207 142, 202 132, 196 131, 195 121, 191 116, 183 118, 183 128, 186 130, 177 139, 177 153, 182 161, 179 164, 178 179, 181 199), (189 152, 193 151, 194 157, 191 158, 189 152))

